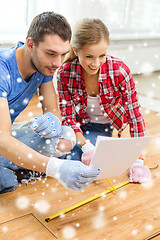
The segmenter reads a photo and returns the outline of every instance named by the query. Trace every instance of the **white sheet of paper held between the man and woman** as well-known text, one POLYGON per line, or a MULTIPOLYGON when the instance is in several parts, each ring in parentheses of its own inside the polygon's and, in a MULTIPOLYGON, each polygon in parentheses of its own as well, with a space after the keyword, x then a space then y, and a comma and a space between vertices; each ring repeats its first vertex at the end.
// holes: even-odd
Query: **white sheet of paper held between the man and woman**
POLYGON ((142 155, 151 138, 151 136, 137 138, 98 136, 91 161, 91 166, 101 170, 98 178, 121 175, 142 155))

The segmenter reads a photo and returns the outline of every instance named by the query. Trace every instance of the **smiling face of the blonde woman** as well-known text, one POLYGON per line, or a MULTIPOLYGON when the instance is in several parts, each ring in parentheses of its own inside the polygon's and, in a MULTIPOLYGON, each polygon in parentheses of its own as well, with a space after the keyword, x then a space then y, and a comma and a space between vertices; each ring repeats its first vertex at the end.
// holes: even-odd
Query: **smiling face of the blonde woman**
POLYGON ((106 61, 108 44, 105 40, 99 43, 84 46, 76 51, 83 72, 87 75, 95 75, 106 61))

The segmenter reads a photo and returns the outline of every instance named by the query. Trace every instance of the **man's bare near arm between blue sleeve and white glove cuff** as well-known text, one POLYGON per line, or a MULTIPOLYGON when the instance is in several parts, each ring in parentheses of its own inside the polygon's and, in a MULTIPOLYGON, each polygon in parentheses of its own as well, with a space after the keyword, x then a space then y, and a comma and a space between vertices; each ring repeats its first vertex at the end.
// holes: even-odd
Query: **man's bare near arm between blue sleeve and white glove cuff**
POLYGON ((46 157, 11 136, 11 119, 6 98, 0 97, 0 155, 11 162, 39 172, 46 172, 46 157))

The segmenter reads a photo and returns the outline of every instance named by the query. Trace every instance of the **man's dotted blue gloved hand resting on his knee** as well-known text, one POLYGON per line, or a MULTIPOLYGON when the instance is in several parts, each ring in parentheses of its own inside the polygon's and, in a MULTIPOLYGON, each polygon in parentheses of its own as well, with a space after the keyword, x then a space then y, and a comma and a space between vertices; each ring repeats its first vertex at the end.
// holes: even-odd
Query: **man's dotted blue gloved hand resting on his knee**
POLYGON ((33 131, 41 138, 53 138, 61 133, 61 122, 51 112, 33 118, 30 122, 33 131))

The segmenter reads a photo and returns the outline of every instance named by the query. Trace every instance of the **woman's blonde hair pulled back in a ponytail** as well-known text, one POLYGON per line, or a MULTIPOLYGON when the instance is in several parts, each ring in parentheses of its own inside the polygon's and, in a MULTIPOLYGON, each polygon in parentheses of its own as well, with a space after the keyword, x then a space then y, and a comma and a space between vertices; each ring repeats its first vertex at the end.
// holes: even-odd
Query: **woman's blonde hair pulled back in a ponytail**
POLYGON ((102 39, 109 44, 108 28, 100 19, 84 18, 80 20, 73 31, 71 49, 65 62, 76 58, 72 47, 80 51, 84 46, 99 43, 102 39))

